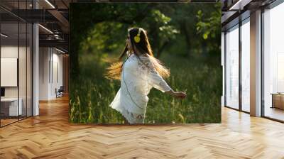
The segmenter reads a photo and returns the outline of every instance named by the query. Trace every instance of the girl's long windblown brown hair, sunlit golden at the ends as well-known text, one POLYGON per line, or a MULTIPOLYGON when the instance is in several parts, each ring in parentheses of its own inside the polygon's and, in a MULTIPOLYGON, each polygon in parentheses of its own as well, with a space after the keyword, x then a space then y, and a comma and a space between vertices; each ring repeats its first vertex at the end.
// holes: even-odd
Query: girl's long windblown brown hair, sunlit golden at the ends
MULTIPOLYGON (((129 28, 129 35, 130 35, 130 41, 131 45, 133 46, 132 50, 134 50, 134 46, 136 46, 139 53, 142 55, 146 55, 149 57, 149 60, 153 63, 155 70, 159 73, 161 77, 167 78, 170 76, 170 70, 166 68, 160 60, 156 59, 153 55, 153 51, 151 49, 151 45, 148 40, 147 32, 143 28, 129 28), (138 34, 139 29, 141 30, 140 33, 140 42, 134 43, 134 37, 138 34)), ((124 51, 121 53, 119 58, 117 60, 114 60, 112 64, 107 67, 107 73, 104 75, 108 79, 121 79, 121 71, 122 71, 122 65, 123 62, 121 62, 122 57, 127 54, 128 52, 127 44, 125 45, 124 51)), ((139 55, 136 53, 136 51, 133 52, 136 57, 139 58, 139 55)))

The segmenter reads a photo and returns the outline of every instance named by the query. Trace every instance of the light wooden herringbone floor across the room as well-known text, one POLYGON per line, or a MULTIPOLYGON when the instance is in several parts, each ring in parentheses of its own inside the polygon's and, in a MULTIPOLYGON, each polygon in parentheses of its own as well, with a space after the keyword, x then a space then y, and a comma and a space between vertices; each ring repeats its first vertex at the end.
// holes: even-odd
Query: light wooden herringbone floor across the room
POLYGON ((0 158, 284 158, 284 124, 222 108, 222 124, 68 123, 68 99, 0 128, 0 158))

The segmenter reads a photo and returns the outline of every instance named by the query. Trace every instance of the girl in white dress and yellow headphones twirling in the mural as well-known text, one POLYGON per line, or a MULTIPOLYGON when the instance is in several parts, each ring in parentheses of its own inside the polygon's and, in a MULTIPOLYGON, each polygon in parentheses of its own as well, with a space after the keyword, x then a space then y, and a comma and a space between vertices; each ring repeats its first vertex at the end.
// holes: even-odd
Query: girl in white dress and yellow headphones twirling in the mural
POLYGON ((130 28, 124 52, 124 62, 114 62, 106 77, 120 79, 121 87, 110 106, 124 116, 126 124, 143 124, 151 88, 159 89, 173 97, 184 99, 185 92, 175 92, 163 77, 169 77, 169 70, 153 57, 147 33, 143 28, 130 28))

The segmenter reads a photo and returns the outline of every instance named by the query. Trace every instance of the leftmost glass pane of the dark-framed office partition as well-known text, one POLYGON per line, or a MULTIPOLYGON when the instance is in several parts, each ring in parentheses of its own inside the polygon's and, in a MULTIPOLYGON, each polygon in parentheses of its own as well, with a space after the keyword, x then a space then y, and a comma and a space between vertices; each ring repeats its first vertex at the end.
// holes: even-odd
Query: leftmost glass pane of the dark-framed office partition
MULTIPOLYGON (((1 23, 1 126, 18 121, 18 23, 1 23)), ((20 106, 19 106, 20 104, 20 106)))

